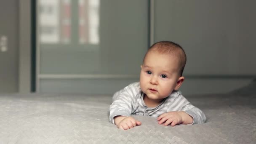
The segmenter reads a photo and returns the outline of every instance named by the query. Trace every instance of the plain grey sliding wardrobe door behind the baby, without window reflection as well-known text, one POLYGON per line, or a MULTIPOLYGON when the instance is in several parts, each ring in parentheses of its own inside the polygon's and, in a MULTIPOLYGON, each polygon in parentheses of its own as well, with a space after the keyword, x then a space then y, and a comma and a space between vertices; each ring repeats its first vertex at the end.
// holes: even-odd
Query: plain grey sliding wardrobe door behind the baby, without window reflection
POLYGON ((155 0, 154 41, 187 53, 187 93, 222 93, 256 77, 256 1, 155 0))

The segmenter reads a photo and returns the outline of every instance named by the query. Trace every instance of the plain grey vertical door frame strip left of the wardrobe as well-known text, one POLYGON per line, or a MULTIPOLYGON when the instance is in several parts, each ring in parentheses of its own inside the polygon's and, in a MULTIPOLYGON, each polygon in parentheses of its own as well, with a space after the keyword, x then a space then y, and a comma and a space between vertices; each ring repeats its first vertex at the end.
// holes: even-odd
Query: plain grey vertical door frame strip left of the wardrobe
MULTIPOLYGON (((19 1, 19 93, 30 93, 32 88, 32 1, 33 0, 20 0, 19 1)), ((34 38, 33 38, 34 39, 34 38)))

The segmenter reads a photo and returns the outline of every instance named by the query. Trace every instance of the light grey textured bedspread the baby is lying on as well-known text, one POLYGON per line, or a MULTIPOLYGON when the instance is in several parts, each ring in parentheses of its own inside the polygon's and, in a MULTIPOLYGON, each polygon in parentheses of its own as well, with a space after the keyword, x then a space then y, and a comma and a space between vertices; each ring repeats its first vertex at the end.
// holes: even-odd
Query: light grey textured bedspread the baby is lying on
POLYGON ((127 131, 109 123, 111 96, 0 95, 0 144, 256 144, 256 96, 185 96, 205 112, 201 125, 142 125, 127 131))

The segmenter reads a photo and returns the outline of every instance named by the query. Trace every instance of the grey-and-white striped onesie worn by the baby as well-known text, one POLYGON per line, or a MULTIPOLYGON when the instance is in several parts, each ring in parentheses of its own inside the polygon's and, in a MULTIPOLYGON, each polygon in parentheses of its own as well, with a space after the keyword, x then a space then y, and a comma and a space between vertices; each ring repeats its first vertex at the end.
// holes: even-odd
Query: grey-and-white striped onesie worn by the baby
POLYGON ((173 91, 157 107, 147 107, 143 100, 144 93, 141 91, 139 82, 132 83, 124 89, 117 91, 113 96, 113 102, 109 107, 109 121, 114 122, 114 117, 147 115, 158 117, 165 112, 184 111, 193 117, 192 124, 204 123, 205 114, 187 101, 180 91, 173 91))

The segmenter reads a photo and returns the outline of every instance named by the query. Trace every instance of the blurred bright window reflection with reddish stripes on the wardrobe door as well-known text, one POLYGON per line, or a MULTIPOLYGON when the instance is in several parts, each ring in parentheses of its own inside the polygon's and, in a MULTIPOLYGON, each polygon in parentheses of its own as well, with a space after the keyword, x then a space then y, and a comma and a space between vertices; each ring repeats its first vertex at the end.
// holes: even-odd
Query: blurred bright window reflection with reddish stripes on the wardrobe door
POLYGON ((77 36, 79 40, 73 44, 99 43, 99 0, 38 0, 38 4, 40 43, 68 44, 77 36), (77 18, 78 25, 71 22, 72 17, 77 18))

